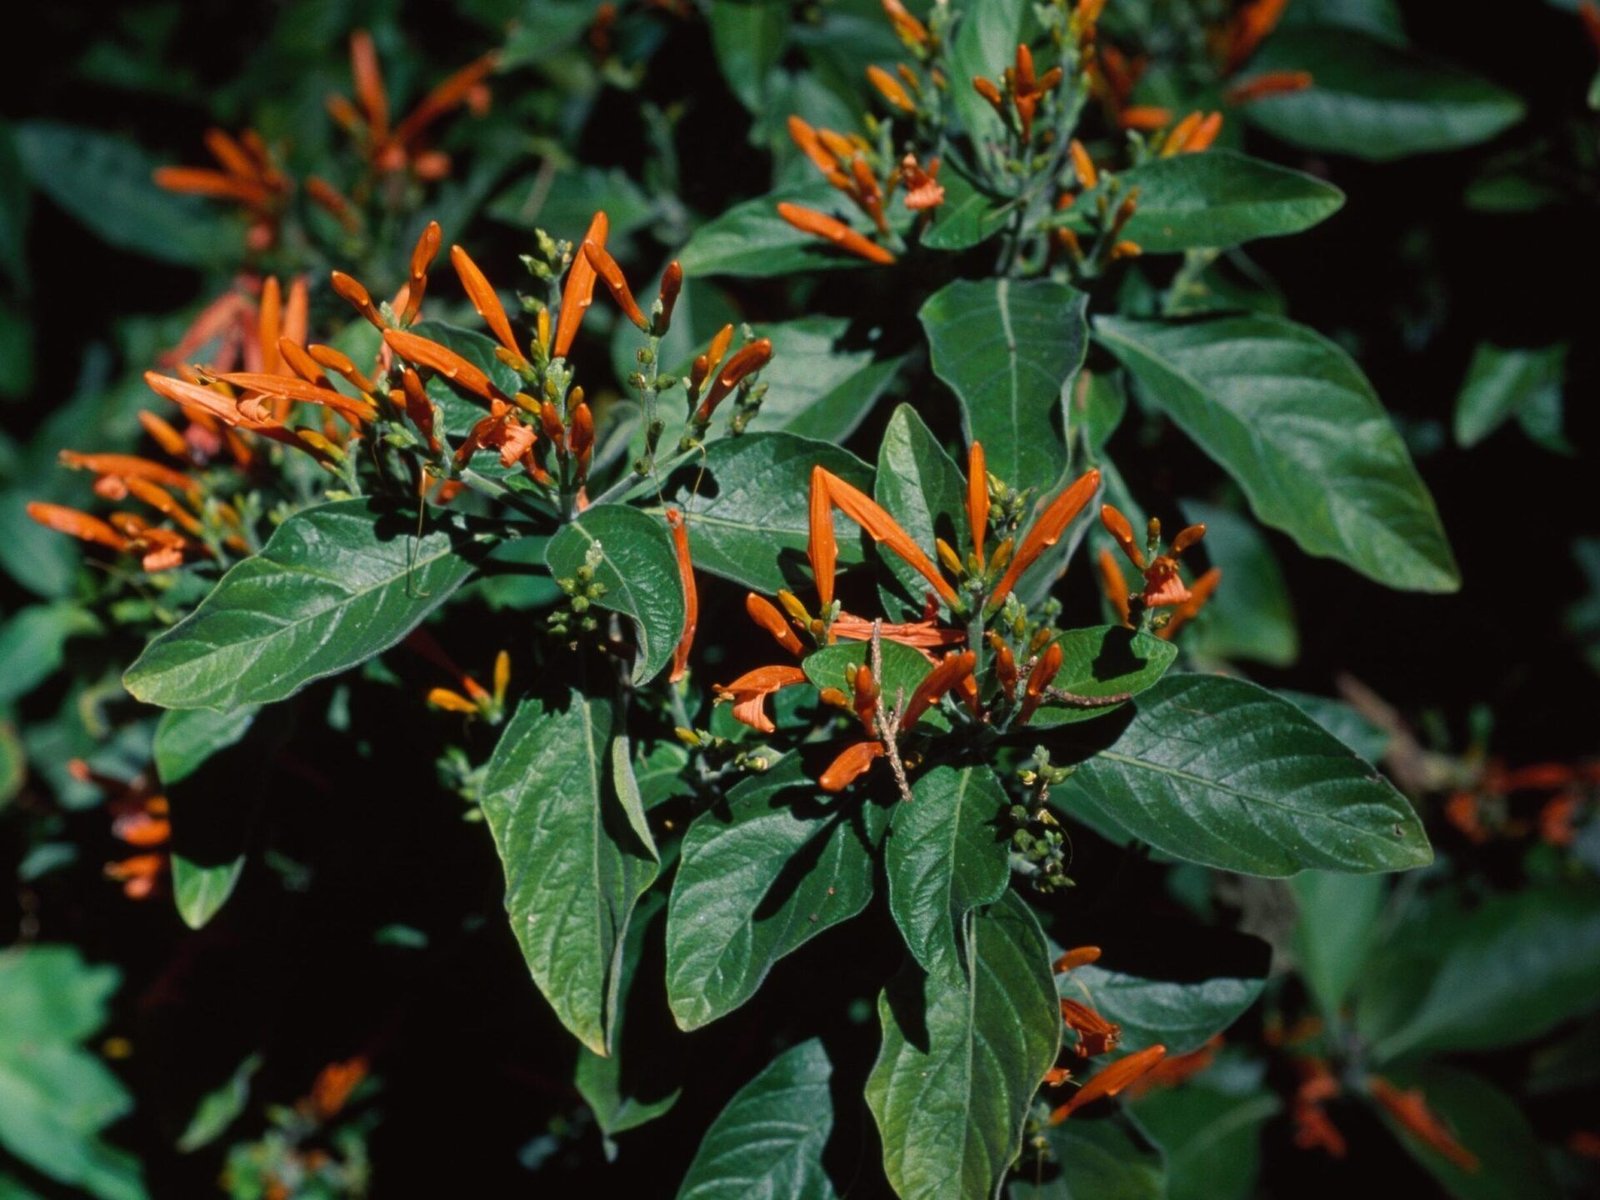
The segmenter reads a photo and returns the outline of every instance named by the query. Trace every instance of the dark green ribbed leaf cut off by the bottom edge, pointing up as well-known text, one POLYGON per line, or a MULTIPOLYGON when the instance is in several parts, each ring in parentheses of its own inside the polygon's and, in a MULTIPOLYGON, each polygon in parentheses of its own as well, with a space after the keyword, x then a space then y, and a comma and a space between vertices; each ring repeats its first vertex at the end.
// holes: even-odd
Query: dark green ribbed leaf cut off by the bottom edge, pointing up
POLYGON ((706 1130, 678 1200, 835 1200, 822 1170, 834 1130, 832 1075, 816 1038, 774 1058, 706 1130))

